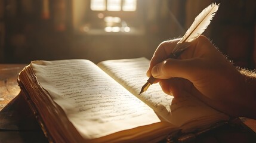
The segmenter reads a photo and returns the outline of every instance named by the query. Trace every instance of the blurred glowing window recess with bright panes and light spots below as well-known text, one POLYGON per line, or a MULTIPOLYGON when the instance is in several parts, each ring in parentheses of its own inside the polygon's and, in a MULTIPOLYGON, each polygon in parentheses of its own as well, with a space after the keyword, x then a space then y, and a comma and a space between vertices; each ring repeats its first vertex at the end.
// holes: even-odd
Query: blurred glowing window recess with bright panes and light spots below
MULTIPOLYGON (((145 0, 147 1, 147 0, 145 0)), ((138 0, 87 0, 81 31, 87 34, 140 34, 143 32, 138 0)), ((81 12, 79 14, 82 15, 81 12)))

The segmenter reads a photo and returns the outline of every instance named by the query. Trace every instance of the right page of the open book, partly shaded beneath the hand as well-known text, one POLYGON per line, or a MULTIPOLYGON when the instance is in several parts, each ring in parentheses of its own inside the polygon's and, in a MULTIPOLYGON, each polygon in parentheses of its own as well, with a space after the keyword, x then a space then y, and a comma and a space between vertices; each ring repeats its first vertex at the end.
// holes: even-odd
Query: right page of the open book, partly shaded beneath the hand
POLYGON ((189 128, 184 127, 184 130, 195 128, 197 124, 204 126, 215 120, 228 119, 226 115, 208 107, 189 93, 184 93, 183 97, 175 99, 171 95, 166 95, 158 83, 151 85, 146 92, 138 95, 149 78, 146 76, 149 60, 146 58, 109 60, 99 63, 98 66, 168 122, 177 126, 190 124, 189 128), (202 122, 194 124, 193 120, 202 120, 202 122))

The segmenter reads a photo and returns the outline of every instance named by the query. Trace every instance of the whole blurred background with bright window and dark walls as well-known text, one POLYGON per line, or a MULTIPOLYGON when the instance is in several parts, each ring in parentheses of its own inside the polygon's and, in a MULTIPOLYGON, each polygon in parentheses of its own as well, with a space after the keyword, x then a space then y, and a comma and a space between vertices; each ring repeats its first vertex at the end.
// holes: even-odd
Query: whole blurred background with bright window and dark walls
POLYGON ((151 58, 212 2, 203 33, 236 66, 255 68, 254 0, 0 0, 0 63, 151 58))

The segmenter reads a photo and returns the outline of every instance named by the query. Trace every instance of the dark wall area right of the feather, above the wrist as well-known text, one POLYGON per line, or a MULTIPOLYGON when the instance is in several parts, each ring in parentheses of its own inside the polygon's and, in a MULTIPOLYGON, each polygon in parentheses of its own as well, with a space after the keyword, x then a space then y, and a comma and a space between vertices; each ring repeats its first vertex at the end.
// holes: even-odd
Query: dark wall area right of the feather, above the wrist
POLYGON ((221 4, 212 23, 212 39, 236 66, 254 69, 256 1, 217 2, 221 4))

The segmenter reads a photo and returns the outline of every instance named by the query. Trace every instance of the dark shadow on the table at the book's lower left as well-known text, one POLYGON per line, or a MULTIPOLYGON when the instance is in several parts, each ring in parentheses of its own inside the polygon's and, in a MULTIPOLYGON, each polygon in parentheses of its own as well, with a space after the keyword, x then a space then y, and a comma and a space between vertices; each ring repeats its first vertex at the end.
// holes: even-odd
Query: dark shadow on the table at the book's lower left
POLYGON ((23 95, 0 111, 0 142, 48 142, 23 95))

